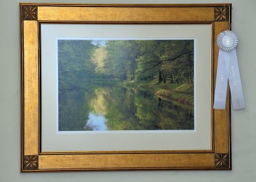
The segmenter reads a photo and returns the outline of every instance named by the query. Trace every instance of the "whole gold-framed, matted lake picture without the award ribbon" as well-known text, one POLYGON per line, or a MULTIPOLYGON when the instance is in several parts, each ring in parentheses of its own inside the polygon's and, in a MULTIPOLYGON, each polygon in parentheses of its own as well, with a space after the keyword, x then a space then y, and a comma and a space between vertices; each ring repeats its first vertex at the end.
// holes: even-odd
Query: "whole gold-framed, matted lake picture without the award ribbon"
POLYGON ((213 109, 231 4, 20 3, 21 172, 231 169, 213 109))

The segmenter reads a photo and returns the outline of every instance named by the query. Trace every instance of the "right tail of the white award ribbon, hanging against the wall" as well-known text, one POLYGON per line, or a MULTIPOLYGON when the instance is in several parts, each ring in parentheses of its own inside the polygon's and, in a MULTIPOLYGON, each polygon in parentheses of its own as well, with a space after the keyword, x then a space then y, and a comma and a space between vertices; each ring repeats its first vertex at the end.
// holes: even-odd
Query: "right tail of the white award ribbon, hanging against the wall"
POLYGON ((230 54, 230 65, 228 73, 228 81, 230 85, 230 93, 233 109, 244 109, 244 95, 237 63, 236 49, 228 52, 230 54))

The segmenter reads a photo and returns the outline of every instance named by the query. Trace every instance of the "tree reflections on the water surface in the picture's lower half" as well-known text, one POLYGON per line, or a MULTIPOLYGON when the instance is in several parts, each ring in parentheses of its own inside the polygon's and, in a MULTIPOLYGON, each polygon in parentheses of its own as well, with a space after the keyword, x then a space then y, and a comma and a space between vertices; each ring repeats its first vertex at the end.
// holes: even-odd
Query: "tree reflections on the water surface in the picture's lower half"
POLYGON ((97 126, 88 123, 90 112, 104 115, 108 130, 194 128, 191 106, 163 100, 150 91, 122 87, 115 83, 92 83, 84 87, 86 91, 79 89, 60 95, 59 130, 97 130, 97 126))

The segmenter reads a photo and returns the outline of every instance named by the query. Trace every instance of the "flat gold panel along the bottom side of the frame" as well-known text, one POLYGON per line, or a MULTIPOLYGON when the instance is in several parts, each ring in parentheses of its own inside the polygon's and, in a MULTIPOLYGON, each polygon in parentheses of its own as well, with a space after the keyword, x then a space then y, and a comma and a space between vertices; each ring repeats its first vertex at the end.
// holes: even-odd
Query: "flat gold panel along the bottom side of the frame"
POLYGON ((39 169, 198 169, 214 168, 213 153, 40 155, 39 169))

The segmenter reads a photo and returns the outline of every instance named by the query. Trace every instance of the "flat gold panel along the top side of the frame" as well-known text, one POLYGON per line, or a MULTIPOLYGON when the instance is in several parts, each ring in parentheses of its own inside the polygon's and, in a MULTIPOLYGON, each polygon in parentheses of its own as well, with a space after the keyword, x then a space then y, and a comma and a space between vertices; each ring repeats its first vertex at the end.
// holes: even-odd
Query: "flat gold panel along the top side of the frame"
POLYGON ((38 6, 38 20, 58 21, 190 21, 214 20, 214 8, 188 7, 56 7, 38 6), (198 12, 198 13, 195 13, 198 12))

